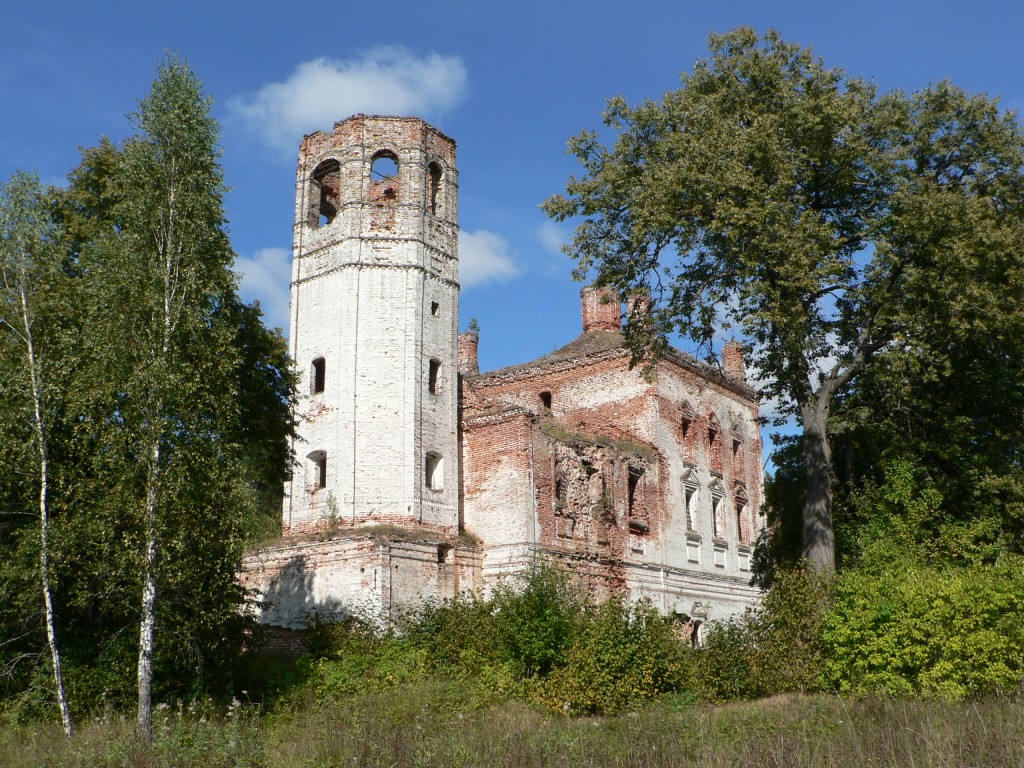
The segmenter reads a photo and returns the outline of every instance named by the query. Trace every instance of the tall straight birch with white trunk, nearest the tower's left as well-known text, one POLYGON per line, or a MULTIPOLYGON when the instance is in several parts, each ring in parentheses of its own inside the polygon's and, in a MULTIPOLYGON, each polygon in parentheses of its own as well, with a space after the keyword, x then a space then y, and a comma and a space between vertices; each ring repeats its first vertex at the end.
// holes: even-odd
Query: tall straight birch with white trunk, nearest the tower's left
POLYGON ((233 254, 210 101, 188 66, 170 58, 133 118, 139 134, 123 150, 121 227, 104 290, 117 302, 109 319, 123 335, 123 416, 140 471, 137 728, 150 738, 158 587, 170 544, 162 529, 180 511, 181 465, 217 458, 189 449, 213 445, 229 418, 237 358, 229 330, 215 319, 233 295, 233 254))

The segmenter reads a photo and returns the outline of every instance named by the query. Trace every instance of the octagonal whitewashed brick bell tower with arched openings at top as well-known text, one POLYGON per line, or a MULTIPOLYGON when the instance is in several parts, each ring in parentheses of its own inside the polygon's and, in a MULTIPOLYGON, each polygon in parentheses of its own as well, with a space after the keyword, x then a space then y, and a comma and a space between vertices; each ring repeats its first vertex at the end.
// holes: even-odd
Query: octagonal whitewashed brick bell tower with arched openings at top
POLYGON ((356 115, 302 140, 285 532, 458 528, 458 178, 455 141, 416 118, 356 115))

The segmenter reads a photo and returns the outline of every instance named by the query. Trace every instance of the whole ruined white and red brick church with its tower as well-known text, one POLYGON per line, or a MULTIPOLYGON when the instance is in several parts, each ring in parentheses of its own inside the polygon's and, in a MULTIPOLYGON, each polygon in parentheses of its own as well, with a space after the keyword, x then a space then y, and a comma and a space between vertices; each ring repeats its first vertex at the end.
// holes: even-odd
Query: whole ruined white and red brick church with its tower
POLYGON ((302 374, 283 539, 249 555, 263 624, 388 615, 538 562, 596 598, 649 599, 698 631, 742 611, 761 514, 758 400, 669 349, 630 367, 622 304, 582 292, 582 334, 477 365, 459 334, 455 141, 357 115, 299 150, 290 346, 302 374))

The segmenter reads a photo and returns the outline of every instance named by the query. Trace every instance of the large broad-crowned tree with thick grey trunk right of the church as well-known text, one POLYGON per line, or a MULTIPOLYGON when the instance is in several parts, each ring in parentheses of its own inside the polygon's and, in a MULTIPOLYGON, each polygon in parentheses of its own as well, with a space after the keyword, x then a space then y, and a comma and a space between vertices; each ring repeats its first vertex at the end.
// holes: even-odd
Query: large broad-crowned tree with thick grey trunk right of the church
POLYGON ((802 428, 803 555, 830 571, 837 398, 881 353, 925 353, 930 307, 975 291, 1016 307, 1024 137, 949 83, 879 95, 774 32, 710 44, 660 101, 611 99, 614 143, 572 139, 585 173, 545 207, 584 218, 578 276, 650 296, 626 329, 638 359, 672 333, 744 339, 802 428))

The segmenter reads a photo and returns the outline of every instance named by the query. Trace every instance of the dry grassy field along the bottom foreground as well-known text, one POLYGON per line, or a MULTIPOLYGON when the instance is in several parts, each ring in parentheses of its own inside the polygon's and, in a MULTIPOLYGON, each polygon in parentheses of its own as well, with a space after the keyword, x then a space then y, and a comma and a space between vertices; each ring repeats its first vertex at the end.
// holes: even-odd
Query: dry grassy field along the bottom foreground
POLYGON ((638 712, 567 718, 471 686, 162 708, 154 743, 120 717, 0 731, 0 764, 39 766, 969 766, 1024 765, 1024 701, 778 696, 718 707, 666 697, 638 712))

